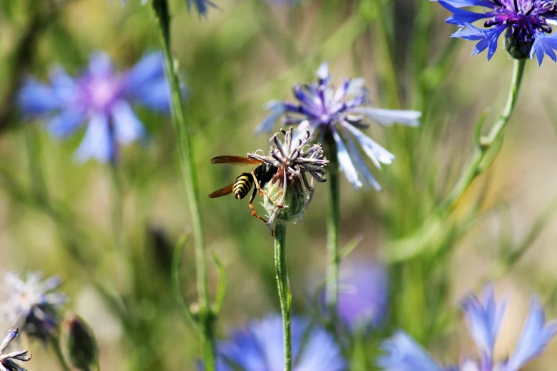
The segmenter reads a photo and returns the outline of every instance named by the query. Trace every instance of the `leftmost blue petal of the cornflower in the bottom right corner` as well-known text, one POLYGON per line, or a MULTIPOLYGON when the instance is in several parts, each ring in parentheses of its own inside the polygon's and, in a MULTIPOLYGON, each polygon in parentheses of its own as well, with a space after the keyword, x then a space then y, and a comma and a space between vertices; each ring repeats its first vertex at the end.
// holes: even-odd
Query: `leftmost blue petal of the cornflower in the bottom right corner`
POLYGON ((440 365, 410 336, 398 331, 383 342, 386 353, 378 357, 377 365, 385 371, 443 371, 440 365))

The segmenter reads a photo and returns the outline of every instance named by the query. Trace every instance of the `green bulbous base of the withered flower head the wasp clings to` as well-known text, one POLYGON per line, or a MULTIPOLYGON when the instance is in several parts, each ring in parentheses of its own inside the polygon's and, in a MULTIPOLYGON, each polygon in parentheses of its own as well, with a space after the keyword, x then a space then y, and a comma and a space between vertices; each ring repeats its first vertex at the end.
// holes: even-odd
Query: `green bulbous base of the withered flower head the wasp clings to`
POLYGON ((263 206, 270 224, 287 223, 296 220, 304 212, 309 197, 302 179, 288 178, 282 170, 277 171, 272 180, 265 185, 263 206))

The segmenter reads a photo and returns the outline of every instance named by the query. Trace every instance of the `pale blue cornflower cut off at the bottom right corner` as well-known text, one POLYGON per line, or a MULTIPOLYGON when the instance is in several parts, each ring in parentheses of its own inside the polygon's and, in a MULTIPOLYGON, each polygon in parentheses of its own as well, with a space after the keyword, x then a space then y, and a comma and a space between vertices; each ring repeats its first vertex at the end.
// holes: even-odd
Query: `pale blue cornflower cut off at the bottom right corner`
POLYGON ((504 303, 495 301, 492 286, 484 289, 482 300, 472 295, 462 305, 470 335, 480 351, 479 360, 465 358, 458 366, 444 367, 400 331, 383 343, 386 354, 379 358, 378 366, 387 371, 519 371, 546 348, 557 333, 557 323, 546 323, 538 299, 532 299, 514 353, 506 360, 496 361, 493 359, 494 345, 504 308, 504 303))

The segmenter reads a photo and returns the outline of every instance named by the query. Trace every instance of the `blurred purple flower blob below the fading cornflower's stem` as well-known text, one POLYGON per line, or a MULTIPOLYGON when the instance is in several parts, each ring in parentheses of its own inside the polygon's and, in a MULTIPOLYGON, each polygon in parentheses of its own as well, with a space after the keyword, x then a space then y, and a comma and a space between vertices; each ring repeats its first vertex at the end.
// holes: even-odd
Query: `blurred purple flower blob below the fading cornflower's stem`
POLYGON ((368 330, 385 321, 388 277, 378 262, 345 260, 339 281, 339 318, 351 332, 368 330))

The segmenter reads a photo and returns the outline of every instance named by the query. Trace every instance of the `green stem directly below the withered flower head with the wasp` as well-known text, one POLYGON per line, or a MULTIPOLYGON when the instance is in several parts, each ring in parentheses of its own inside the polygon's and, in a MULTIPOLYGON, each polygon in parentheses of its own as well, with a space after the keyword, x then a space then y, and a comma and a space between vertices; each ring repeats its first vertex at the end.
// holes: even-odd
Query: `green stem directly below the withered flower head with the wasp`
POLYGON ((290 326, 292 295, 286 269, 286 225, 282 223, 275 227, 275 267, 284 331, 285 371, 290 371, 292 370, 292 329, 290 326))

